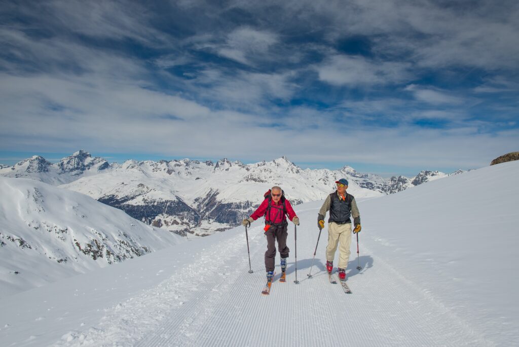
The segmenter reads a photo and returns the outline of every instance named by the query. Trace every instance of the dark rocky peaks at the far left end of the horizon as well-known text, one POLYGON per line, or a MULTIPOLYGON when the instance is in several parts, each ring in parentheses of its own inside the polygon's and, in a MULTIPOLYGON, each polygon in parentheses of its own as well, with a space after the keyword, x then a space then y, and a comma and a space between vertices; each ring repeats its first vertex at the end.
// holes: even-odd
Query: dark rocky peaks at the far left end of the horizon
POLYGON ((95 175, 111 168, 108 162, 100 157, 80 150, 67 156, 59 163, 52 164, 39 155, 27 158, 16 165, 0 167, 0 176, 31 178, 52 185, 69 183, 83 176, 95 175))

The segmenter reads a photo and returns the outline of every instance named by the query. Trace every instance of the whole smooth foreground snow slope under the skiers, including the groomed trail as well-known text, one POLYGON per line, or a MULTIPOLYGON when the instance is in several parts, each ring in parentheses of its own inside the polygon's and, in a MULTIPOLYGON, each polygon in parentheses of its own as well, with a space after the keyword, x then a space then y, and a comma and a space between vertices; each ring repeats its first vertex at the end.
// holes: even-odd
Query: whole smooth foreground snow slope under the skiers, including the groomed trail
MULTIPOLYGON (((296 208, 288 282, 264 285, 262 223, 0 300, 11 345, 510 346, 519 339, 519 162, 359 199, 346 295, 327 281, 317 211, 296 208), (296 278, 299 284, 294 284, 296 278)), ((279 263, 279 256, 277 259, 279 263)), ((277 268, 279 272, 279 268, 277 268)))

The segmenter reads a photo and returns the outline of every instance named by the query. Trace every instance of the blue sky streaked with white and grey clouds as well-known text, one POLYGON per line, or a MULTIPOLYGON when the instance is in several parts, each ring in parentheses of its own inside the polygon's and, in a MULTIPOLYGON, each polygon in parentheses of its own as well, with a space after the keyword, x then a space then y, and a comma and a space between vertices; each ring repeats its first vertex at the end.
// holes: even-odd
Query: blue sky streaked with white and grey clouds
POLYGON ((516 1, 0 4, 0 164, 282 155, 385 177, 519 150, 516 1))

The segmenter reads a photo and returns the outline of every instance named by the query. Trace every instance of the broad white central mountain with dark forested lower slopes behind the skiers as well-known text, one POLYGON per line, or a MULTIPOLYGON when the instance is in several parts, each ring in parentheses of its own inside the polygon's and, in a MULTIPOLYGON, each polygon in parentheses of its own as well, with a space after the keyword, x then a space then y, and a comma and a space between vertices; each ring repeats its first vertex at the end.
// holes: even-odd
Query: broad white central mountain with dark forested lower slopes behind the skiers
POLYGON ((284 157, 248 165, 227 159, 216 163, 127 161, 104 174, 62 187, 179 234, 207 235, 238 225, 263 201, 263 194, 272 185, 280 185, 293 205, 325 198, 341 177, 350 179, 349 192, 356 197, 383 195, 362 188, 356 178, 350 178, 352 171, 348 167, 302 170, 284 157))

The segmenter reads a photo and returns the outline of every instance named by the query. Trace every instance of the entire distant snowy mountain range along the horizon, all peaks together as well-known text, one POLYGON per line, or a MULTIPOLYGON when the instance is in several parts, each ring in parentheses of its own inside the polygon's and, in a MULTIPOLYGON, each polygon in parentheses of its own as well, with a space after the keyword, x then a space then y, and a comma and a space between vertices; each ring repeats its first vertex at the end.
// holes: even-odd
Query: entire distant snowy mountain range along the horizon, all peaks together
POLYGON ((78 151, 51 164, 33 157, 0 175, 31 177, 59 184, 122 209, 128 215, 179 235, 209 235, 238 225, 263 200, 272 185, 280 185, 293 205, 323 199, 334 190, 334 182, 347 178, 348 192, 356 198, 392 194, 434 179, 439 171, 421 171, 416 177, 387 180, 363 174, 350 166, 338 170, 301 169, 286 157, 271 162, 243 164, 220 159, 200 162, 127 161, 108 164, 78 151))

